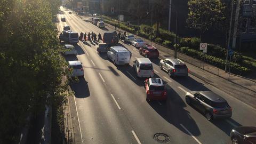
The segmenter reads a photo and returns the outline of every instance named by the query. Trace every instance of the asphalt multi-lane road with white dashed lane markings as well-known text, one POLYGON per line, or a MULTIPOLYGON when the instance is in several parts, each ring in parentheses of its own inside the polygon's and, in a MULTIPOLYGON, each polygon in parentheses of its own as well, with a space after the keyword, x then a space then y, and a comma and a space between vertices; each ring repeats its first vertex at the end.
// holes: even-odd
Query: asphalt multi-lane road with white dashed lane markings
MULTIPOLYGON (((58 18, 59 31, 65 25, 86 34, 93 31, 103 35, 108 30, 68 11, 60 13, 58 18), (61 17, 65 17, 66 22, 61 22, 61 17)), ((83 62, 84 68, 84 77, 79 78, 79 83, 70 84, 75 92, 74 97, 70 97, 70 108, 76 143, 159 143, 157 138, 160 141, 165 138, 161 134, 155 137, 158 133, 168 135, 167 143, 228 143, 234 126, 256 126, 255 109, 194 76, 170 78, 159 69, 160 59, 151 61, 155 77, 167 82, 167 101, 146 101, 145 79, 137 78, 132 68, 133 61, 142 56, 131 45, 123 42, 119 45, 132 53, 129 66, 115 66, 106 54, 97 53, 97 43, 88 41, 75 45, 77 57, 66 57, 67 61, 83 62), (187 91, 200 90, 211 90, 225 98, 233 108, 233 116, 207 121, 185 102, 187 91)))

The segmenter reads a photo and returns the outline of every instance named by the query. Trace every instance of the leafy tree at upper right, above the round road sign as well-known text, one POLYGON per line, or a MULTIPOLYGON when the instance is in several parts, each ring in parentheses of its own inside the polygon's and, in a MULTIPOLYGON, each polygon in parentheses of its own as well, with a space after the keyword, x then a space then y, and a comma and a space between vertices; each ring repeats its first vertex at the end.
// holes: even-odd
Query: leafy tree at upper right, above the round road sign
POLYGON ((220 27, 226 19, 220 0, 189 0, 188 10, 188 26, 200 30, 200 39, 206 30, 220 27))

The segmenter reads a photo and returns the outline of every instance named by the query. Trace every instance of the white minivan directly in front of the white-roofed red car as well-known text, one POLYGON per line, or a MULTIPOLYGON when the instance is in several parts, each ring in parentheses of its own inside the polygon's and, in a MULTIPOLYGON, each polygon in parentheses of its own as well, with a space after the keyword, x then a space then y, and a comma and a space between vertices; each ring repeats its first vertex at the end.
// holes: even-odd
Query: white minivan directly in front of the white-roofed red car
POLYGON ((154 68, 148 58, 137 58, 133 61, 133 68, 138 77, 153 77, 154 68))

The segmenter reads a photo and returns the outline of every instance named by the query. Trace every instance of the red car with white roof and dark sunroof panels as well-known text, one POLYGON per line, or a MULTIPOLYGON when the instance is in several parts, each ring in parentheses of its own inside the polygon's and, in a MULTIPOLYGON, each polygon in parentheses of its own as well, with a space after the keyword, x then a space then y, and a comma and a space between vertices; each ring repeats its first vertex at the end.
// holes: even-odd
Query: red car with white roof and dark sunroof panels
POLYGON ((167 92, 161 78, 148 78, 145 81, 147 100, 166 100, 167 92))

